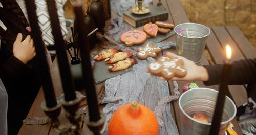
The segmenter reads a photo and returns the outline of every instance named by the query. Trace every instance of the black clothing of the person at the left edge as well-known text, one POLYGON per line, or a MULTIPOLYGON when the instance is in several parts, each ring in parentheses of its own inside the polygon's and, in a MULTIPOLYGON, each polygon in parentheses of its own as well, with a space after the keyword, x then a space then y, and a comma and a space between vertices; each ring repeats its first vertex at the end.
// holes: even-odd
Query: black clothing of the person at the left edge
MULTIPOLYGON (((1 1, 2 2, 2 1, 1 1)), ((13 56, 13 43, 18 33, 23 40, 29 35, 24 24, 10 10, 0 8, 0 20, 7 30, 0 28, 0 77, 8 93, 8 134, 17 134, 41 86, 37 57, 27 64, 13 56)))

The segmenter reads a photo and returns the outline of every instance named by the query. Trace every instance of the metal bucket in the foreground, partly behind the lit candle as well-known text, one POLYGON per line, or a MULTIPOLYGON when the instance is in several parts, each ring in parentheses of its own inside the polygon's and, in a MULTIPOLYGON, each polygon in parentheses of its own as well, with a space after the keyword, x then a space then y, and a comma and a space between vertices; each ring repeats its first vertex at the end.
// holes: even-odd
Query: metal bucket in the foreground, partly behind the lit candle
MULTIPOLYGON (((218 91, 210 88, 190 89, 180 96, 182 134, 209 134, 217 96, 218 91), (194 119, 193 115, 197 112, 206 114, 209 123, 194 119)), ((236 105, 226 96, 219 134, 225 133, 228 123, 236 113, 236 105)))

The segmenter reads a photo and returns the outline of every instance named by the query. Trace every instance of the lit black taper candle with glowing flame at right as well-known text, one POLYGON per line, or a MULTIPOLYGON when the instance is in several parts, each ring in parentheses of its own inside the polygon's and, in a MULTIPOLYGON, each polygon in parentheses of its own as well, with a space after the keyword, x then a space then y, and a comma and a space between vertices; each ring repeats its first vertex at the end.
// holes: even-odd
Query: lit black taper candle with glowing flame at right
POLYGON ((230 77, 230 72, 232 68, 231 59, 231 48, 229 45, 226 46, 226 57, 227 59, 224 60, 222 76, 221 76, 221 83, 219 87, 219 94, 216 101, 214 116, 212 117, 212 123, 209 134, 219 134, 220 130, 220 123, 222 118, 222 111, 225 102, 225 96, 228 91, 228 82, 227 80, 230 77))

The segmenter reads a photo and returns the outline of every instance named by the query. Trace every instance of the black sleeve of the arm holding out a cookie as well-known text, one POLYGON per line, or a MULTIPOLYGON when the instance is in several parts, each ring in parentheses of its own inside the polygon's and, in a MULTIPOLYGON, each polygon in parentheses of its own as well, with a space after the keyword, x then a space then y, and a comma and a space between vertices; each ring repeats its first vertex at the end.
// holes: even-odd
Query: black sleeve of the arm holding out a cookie
MULTIPOLYGON (((205 65, 207 69, 209 80, 205 81, 205 85, 216 85, 221 81, 221 74, 223 65, 205 65)), ((228 80, 229 85, 242 85, 256 83, 256 58, 244 59, 234 61, 232 63, 232 69, 230 78, 228 80)))

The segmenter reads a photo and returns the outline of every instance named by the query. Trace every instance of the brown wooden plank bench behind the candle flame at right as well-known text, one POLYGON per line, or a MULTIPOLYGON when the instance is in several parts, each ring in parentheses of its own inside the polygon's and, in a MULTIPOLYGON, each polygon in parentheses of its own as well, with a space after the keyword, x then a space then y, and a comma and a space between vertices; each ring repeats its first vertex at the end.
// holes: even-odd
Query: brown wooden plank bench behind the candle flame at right
MULTIPOLYGON (((240 59, 256 58, 256 52, 250 42, 237 26, 215 26, 211 27, 211 35, 206 44, 214 64, 222 64, 225 56, 224 47, 229 44, 232 48, 232 61, 240 59)), ((232 98, 237 107, 247 101, 246 85, 230 85, 229 97, 232 98)))

